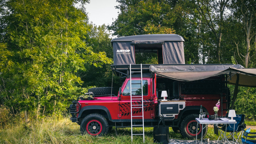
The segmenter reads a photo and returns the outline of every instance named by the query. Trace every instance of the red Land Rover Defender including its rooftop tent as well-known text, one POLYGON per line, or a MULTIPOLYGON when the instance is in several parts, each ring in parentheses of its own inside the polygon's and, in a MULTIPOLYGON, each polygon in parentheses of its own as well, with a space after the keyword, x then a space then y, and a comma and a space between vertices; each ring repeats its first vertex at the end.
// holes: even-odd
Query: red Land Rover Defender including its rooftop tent
MULTIPOLYGON (((131 127, 131 87, 140 84, 141 65, 135 63, 135 53, 155 52, 158 64, 142 65, 144 126, 155 127, 159 116, 164 116, 165 125, 180 132, 184 138, 196 137, 196 121, 200 106, 207 115, 213 115, 213 107, 220 100, 219 116, 225 116, 230 105, 228 75, 218 70, 240 65, 186 65, 184 61, 183 38, 179 35, 140 35, 115 38, 112 41, 115 75, 124 80, 119 92, 111 87, 92 88, 92 100, 78 98, 70 105, 70 120, 80 125, 82 133, 103 135, 113 126, 131 127), (130 64, 132 66, 130 67, 130 64), (203 72, 203 73, 202 73, 203 72), (204 73, 207 72, 207 73, 204 73), (132 84, 130 81, 132 77, 132 84), (132 85, 130 87, 130 85, 132 85), (162 101, 161 92, 167 91, 168 101, 162 101), (112 92, 112 93, 111 93, 112 92)), ((140 97, 141 90, 134 89, 132 97, 140 97)), ((133 105, 141 105, 141 100, 132 100, 133 105)), ((134 125, 141 125, 140 108, 132 110, 134 125)), ((140 127, 140 126, 138 126, 140 127)), ((198 124, 198 137, 201 137, 202 125, 198 124)), ((207 127, 203 130, 203 136, 207 127)))

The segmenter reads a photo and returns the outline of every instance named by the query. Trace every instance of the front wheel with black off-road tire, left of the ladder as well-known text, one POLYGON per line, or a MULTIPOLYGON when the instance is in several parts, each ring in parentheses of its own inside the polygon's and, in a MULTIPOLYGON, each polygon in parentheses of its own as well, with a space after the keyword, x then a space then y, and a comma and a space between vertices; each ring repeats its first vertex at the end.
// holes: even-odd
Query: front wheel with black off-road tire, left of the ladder
POLYGON ((88 133, 93 136, 103 136, 108 134, 108 121, 100 114, 90 114, 82 120, 80 131, 82 134, 88 133))

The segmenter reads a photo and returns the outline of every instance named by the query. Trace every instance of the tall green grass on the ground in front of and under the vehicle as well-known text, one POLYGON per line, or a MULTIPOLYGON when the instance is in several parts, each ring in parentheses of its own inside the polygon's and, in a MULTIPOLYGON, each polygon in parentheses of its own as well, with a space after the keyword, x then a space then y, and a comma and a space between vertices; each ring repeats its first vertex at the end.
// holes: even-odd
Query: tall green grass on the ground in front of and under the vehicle
MULTIPOLYGON (((254 123, 253 123, 254 124, 254 123)), ((92 137, 90 135, 81 135, 80 126, 76 123, 71 123, 70 120, 51 120, 48 119, 44 123, 31 122, 24 124, 22 122, 15 125, 8 125, 0 129, 1 144, 130 144, 131 129, 119 129, 119 135, 116 136, 113 128, 110 134, 103 137, 92 137)), ((135 129, 135 132, 140 132, 141 129, 135 129)), ((256 132, 251 130, 251 132, 256 132)), ((179 133, 174 133, 170 128, 171 139, 183 139, 179 133)), ((205 138, 217 140, 218 136, 214 134, 213 128, 208 128, 205 138)), ((143 143, 142 136, 135 136, 133 143, 143 143)), ((145 128, 145 143, 153 144, 153 128, 145 128)))

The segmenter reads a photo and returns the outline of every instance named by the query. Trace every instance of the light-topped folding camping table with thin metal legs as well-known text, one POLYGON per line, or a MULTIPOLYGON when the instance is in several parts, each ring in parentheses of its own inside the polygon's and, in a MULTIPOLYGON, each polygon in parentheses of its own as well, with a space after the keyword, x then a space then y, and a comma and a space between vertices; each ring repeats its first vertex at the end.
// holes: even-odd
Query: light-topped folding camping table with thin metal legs
MULTIPOLYGON (((201 137, 201 144, 203 143, 203 131, 204 131, 204 128, 208 125, 208 124, 234 124, 234 132, 235 132, 235 124, 236 122, 229 122, 229 121, 223 121, 223 120, 209 120, 208 118, 204 118, 204 119, 199 119, 199 118, 196 118, 196 142, 197 142, 197 125, 198 124, 202 124, 202 137, 201 137), (204 127, 204 124, 206 124, 206 126, 204 127)), ((224 135, 224 139, 225 139, 225 143, 226 144, 226 140, 227 137, 226 137, 226 133, 227 133, 227 126, 226 126, 226 131, 225 131, 225 135, 224 135)), ((233 144, 234 144, 234 137, 233 137, 233 144)))

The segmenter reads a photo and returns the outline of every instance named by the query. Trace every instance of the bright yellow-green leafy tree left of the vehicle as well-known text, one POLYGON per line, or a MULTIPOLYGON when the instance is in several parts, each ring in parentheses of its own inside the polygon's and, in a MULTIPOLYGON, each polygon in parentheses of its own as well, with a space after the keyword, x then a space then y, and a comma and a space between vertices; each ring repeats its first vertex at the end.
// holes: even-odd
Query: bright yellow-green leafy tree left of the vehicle
MULTIPOLYGON (((87 0, 9 0, 1 15, 1 99, 15 111, 60 114, 83 92, 84 63, 110 64, 86 45, 87 0)), ((28 116, 29 118, 29 116, 28 116)))

